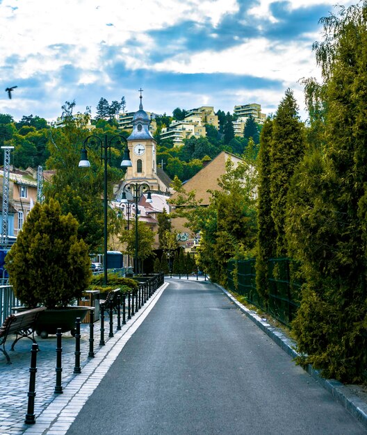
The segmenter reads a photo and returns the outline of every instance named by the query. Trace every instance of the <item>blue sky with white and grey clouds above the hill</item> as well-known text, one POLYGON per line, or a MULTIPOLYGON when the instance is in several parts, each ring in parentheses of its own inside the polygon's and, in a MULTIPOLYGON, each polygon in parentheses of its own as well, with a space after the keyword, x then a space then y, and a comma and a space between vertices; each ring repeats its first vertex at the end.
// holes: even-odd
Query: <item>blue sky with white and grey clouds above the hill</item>
MULTIPOLYGON (((304 118, 302 77, 335 0, 0 0, 0 113, 54 120, 124 96, 138 110, 275 113, 287 88, 304 118), (5 88, 17 85, 13 99, 5 88)), ((349 6, 357 0, 342 0, 349 6)))

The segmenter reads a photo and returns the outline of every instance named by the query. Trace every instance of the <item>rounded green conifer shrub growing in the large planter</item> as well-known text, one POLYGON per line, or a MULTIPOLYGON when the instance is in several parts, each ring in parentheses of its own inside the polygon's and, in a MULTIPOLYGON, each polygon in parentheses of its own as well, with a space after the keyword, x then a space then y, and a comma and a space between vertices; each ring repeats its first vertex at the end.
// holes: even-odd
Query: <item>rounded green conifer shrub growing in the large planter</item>
POLYGON ((25 306, 67 306, 88 288, 88 247, 77 228, 56 201, 33 206, 6 256, 9 281, 25 306))

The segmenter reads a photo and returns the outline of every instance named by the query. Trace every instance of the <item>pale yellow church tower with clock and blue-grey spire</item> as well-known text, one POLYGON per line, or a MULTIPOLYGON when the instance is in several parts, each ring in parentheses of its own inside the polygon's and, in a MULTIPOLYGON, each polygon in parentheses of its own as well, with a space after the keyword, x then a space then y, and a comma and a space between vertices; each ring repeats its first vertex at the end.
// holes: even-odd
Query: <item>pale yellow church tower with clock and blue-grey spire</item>
POLYGON ((147 183, 152 190, 161 190, 156 170, 156 141, 149 131, 149 115, 142 108, 142 89, 140 105, 133 115, 133 131, 127 138, 132 166, 128 167, 125 183, 147 183))

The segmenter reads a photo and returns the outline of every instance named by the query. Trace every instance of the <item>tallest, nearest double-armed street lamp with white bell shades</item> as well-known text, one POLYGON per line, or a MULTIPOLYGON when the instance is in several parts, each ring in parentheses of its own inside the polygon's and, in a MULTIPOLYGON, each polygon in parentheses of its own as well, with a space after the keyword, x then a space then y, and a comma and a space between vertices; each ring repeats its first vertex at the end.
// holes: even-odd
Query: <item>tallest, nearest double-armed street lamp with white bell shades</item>
MULTIPOLYGON (((121 136, 120 134, 114 135, 111 138, 108 139, 107 135, 104 135, 104 139, 102 140, 98 136, 91 135, 88 136, 83 142, 83 148, 81 149, 81 160, 79 162, 79 167, 90 167, 90 162, 88 161, 88 152, 87 147, 90 148, 88 145, 88 141, 90 139, 95 140, 95 142, 92 142, 92 145, 99 144, 101 147, 101 163, 104 161, 104 284, 107 284, 107 163, 111 163, 111 142, 115 139, 118 139, 118 142, 122 140, 125 144, 124 149, 124 158, 121 162, 121 167, 129 167, 132 166, 131 160, 130 160, 130 153, 129 148, 127 147, 127 139, 124 138, 124 136, 121 136)), ((117 142, 117 143, 118 143, 117 142)))

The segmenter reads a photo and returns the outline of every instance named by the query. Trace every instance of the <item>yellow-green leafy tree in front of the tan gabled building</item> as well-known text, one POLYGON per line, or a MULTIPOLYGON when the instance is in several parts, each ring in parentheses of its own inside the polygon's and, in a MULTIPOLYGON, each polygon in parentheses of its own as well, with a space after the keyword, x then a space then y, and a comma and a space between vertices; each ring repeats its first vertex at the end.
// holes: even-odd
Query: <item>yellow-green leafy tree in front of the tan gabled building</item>
POLYGON ((195 191, 186 192, 177 178, 172 186, 178 195, 172 216, 185 217, 187 226, 200 231, 197 264, 220 284, 227 281, 230 258, 248 258, 254 254, 256 241, 256 206, 254 162, 237 167, 227 161, 227 172, 220 179, 220 189, 211 191, 211 204, 201 207, 195 191))

